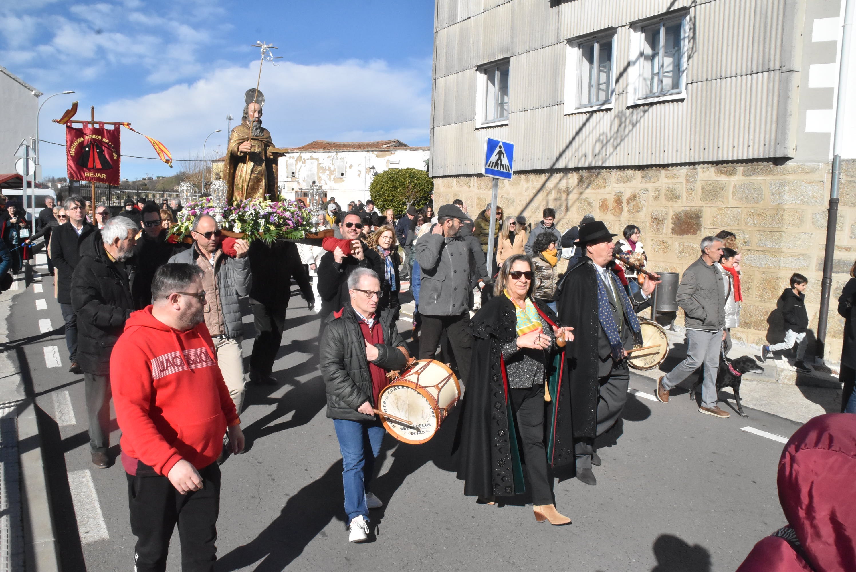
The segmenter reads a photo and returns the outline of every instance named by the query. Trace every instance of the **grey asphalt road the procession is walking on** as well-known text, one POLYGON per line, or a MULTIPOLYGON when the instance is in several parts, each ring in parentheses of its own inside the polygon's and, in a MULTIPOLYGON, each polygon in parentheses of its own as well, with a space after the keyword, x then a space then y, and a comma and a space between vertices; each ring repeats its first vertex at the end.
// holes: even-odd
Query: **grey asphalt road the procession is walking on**
MULTIPOLYGON (((42 292, 30 285, 15 297, 9 339, 18 341, 27 392, 40 408, 62 569, 130 570, 127 482, 121 465, 97 469, 89 461, 82 376, 67 371, 51 281, 45 276, 42 292), (51 363, 54 346, 59 366, 51 363)), ((428 444, 386 438, 373 486, 384 503, 372 511, 377 540, 350 545, 342 459, 314 357, 318 318, 299 296, 292 304, 275 366, 280 384, 248 390, 241 415, 247 452, 222 467, 218 571, 726 571, 784 523, 776 494, 782 443, 741 428, 787 438, 798 424, 752 409, 748 419, 716 419, 699 414, 681 390, 664 405, 648 398, 653 380, 633 374, 632 388, 645 395, 628 396, 623 419, 600 440, 597 486, 556 481, 556 504, 572 525, 536 523, 523 505, 528 499, 497 508, 464 497, 449 457, 450 419, 428 444)), ((244 322, 248 356, 254 332, 247 307, 244 322)), ((113 456, 118 442, 116 429, 113 456)), ((179 570, 177 534, 172 546, 168 569, 179 570)))

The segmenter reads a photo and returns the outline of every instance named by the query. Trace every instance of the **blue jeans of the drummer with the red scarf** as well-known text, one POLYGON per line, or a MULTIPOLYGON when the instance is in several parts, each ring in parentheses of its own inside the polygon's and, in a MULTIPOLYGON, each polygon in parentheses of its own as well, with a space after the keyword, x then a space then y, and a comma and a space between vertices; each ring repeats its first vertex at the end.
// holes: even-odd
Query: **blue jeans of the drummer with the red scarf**
POLYGON ((368 521, 366 491, 372 482, 375 457, 380 453, 386 430, 380 421, 334 419, 333 425, 339 439, 339 450, 342 451, 342 487, 345 489, 348 522, 360 515, 368 521), (366 455, 366 452, 370 454, 366 455))

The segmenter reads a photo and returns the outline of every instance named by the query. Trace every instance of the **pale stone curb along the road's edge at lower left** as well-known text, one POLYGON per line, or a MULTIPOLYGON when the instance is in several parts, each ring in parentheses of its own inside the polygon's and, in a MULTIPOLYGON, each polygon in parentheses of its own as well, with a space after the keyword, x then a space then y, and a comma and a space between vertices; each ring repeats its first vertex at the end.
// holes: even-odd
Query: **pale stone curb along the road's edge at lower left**
POLYGON ((42 440, 36 406, 30 398, 18 405, 18 442, 21 451, 21 493, 27 570, 59 572, 59 551, 54 532, 51 494, 45 477, 42 440))

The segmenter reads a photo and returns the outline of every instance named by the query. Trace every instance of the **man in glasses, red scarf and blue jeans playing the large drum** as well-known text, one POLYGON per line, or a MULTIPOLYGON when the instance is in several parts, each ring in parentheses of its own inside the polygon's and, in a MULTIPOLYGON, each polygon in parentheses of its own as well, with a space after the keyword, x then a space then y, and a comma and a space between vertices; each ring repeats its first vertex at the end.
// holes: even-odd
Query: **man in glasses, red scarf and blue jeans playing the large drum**
POLYGON ((385 432, 374 413, 377 396, 388 383, 387 372, 403 369, 410 356, 393 312, 376 312, 381 293, 377 274, 355 269, 348 277, 348 293, 350 302, 327 318, 318 353, 327 387, 327 417, 333 420, 342 451, 349 541, 364 542, 369 536, 369 509, 383 506, 369 492, 385 432))

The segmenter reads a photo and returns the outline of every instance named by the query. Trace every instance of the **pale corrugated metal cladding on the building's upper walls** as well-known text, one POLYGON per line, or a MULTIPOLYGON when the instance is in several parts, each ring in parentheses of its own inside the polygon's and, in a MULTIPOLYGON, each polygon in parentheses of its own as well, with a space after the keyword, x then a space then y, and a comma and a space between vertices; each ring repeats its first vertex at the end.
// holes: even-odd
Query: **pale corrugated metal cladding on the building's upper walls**
POLYGON ((437 0, 432 176, 481 172, 485 137, 514 141, 515 170, 791 156, 786 10, 799 0, 437 0), (630 25, 687 9, 687 98, 627 108, 630 25), (618 29, 615 108, 564 115, 570 38, 618 29), (476 128, 476 68, 510 57, 509 121, 476 128), (778 136, 778 140, 777 140, 778 136))

